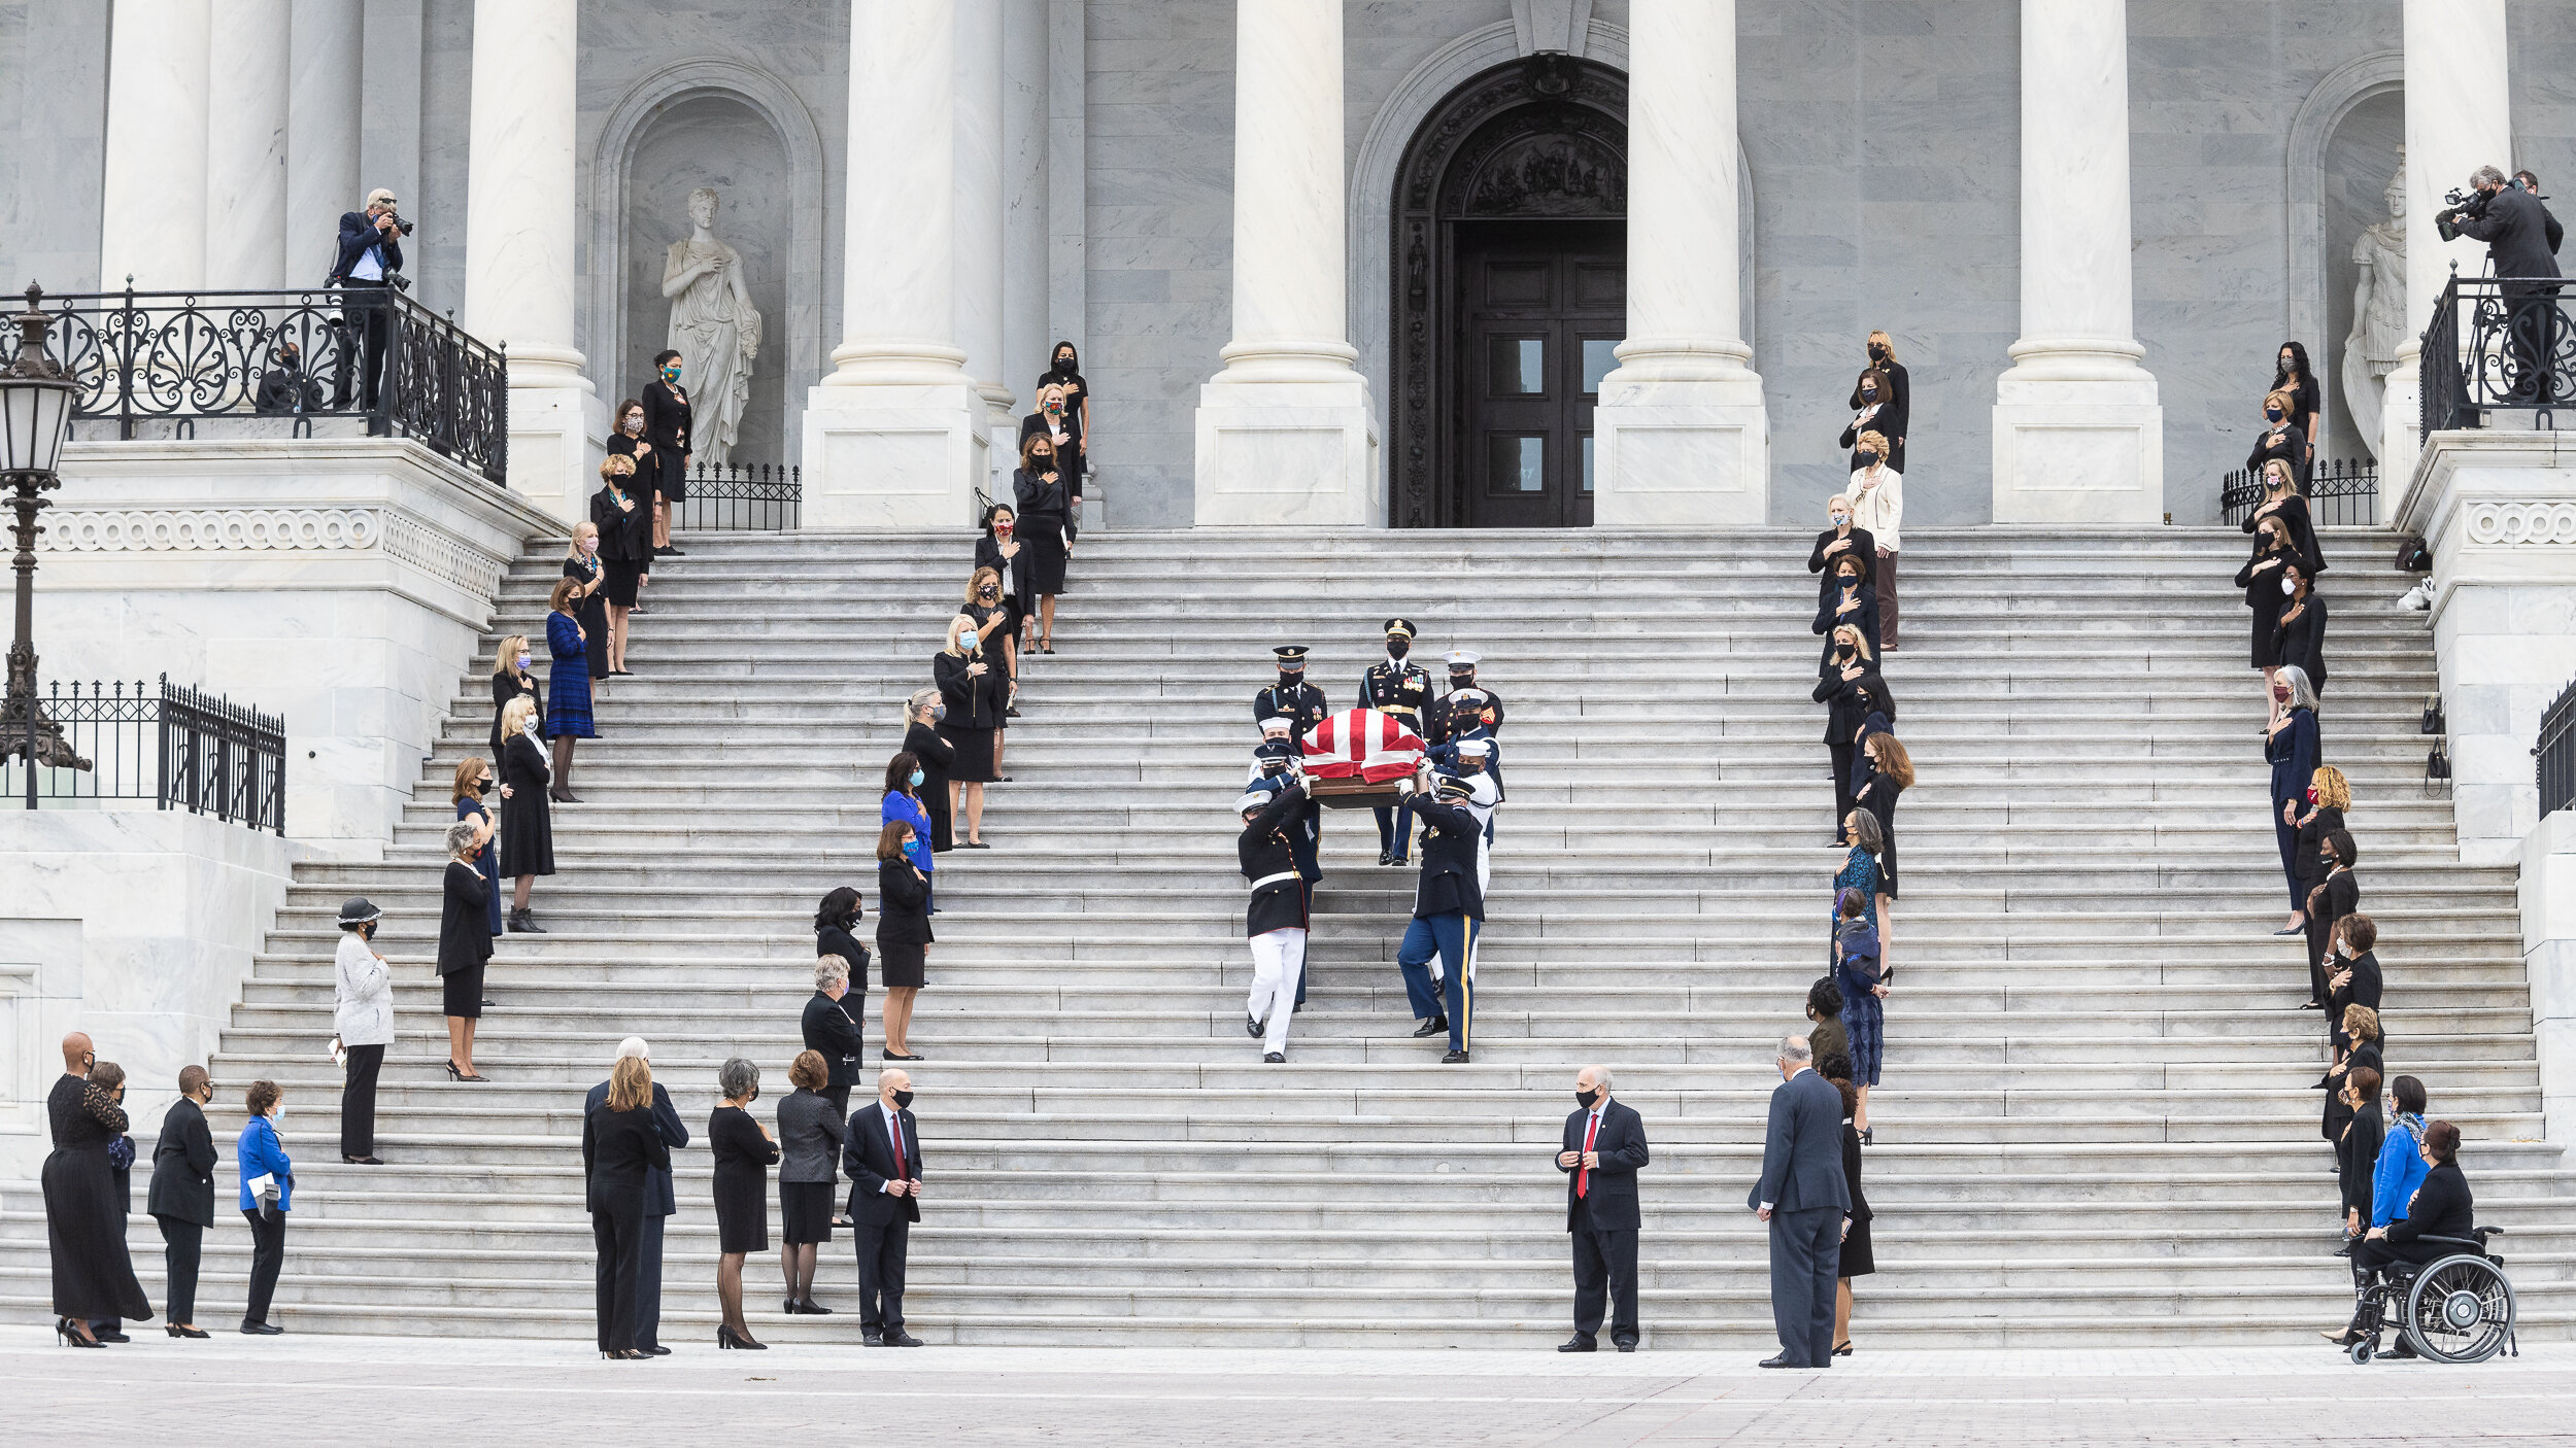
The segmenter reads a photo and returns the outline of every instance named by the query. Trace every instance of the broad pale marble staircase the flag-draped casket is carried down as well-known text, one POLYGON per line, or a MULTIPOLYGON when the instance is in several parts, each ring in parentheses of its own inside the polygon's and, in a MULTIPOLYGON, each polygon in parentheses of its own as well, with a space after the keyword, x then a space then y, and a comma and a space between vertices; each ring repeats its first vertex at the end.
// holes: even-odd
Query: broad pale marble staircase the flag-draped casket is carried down
MULTIPOLYGON (((912 1329, 933 1342, 1528 1345, 1564 1335, 1548 1157, 1579 1064, 1646 1116, 1654 1345, 1770 1337, 1759 1159, 1770 1043, 1824 958, 1829 786, 1811 703, 1806 533, 1092 533, 1059 654, 1028 660, 989 853, 940 858, 920 997, 930 1162, 912 1329), (1378 621, 1473 647, 1510 706, 1473 1064, 1412 1041, 1394 943, 1406 871, 1334 812, 1314 1002, 1285 1067, 1242 1033, 1249 951, 1229 801, 1267 649, 1303 642, 1337 706, 1378 621)), ((549 935, 492 964, 479 1062, 451 1085, 430 974, 438 832, 484 750, 489 654, 384 863, 309 866, 214 1059, 289 1090, 304 1162, 289 1329, 590 1332, 582 1090, 641 1033, 693 1131, 742 1054, 783 1095, 814 902, 873 904, 899 701, 963 582, 956 536, 698 536, 603 688, 580 806, 556 809, 549 935), (332 912, 386 907, 397 966, 386 1167, 337 1162, 332 912)), ((2540 1136, 2509 871, 2458 863, 2424 799, 2424 616, 2380 533, 2334 533, 2326 752, 2354 781, 2391 1072, 2468 1134, 2524 1329, 2576 1327, 2576 1172, 2540 1136)), ((505 585, 533 626, 556 546, 505 585)), ((1865 1190, 1880 1273, 1855 1335, 1901 1345, 2287 1342, 2339 1322, 2321 1025, 2264 817, 2262 701, 2233 531, 1924 528, 1888 665, 1922 770, 1899 812, 1899 992, 1865 1190)), ((871 995, 871 1015, 873 1015, 871 995)), ((137 1131, 149 1141, 155 1123, 137 1131)), ((137 1180, 137 1201, 142 1183, 137 1180)), ((708 1159, 680 1154, 665 1342, 714 1335, 708 1159)), ((44 1314, 44 1221, 0 1203, 0 1311, 44 1314)), ((160 1299, 160 1242, 134 1219, 160 1299)), ((855 1319, 760 1337, 855 1342, 855 1319)), ((855 1306, 848 1237, 819 1296, 855 1306)), ((209 1239, 229 1322, 247 1234, 209 1239)), ((768 1311, 757 1311, 768 1309, 768 1311)), ((2311 1337, 2313 1340, 2313 1337, 2311 1337)), ((2324 1353, 2324 1348, 2318 1348, 2324 1353)))

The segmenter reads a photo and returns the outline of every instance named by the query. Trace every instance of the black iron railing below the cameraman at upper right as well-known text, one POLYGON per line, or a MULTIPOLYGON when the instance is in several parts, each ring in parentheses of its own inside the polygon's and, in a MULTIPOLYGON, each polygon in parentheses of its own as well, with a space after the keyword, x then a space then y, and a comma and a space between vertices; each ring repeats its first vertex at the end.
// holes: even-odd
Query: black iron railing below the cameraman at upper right
POLYGON ((2558 278, 2452 271, 2424 327, 2424 435, 2483 428, 2488 412, 2530 412, 2555 428, 2576 407, 2576 319, 2558 278))

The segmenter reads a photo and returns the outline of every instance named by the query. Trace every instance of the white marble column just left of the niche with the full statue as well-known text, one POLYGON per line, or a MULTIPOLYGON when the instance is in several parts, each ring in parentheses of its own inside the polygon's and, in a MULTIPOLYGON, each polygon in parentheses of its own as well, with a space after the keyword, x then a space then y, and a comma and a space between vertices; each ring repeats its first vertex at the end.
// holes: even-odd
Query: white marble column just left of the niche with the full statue
POLYGON ((574 289, 574 0, 474 0, 466 304, 510 350, 510 490, 587 515, 608 415, 582 374, 574 289))

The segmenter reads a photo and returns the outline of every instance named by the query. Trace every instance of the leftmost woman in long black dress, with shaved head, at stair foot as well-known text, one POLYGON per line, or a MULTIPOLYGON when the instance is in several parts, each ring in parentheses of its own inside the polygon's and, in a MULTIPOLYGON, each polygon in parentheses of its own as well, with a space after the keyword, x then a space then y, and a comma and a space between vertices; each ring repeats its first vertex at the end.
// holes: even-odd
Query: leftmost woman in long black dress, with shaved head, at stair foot
POLYGON ((44 1234, 54 1257, 54 1332, 75 1348, 98 1348, 93 1319, 149 1322, 152 1304, 134 1281, 126 1252, 131 1196, 116 1193, 108 1144, 126 1134, 113 1092, 88 1080, 95 1069, 88 1036, 64 1041, 64 1077, 44 1098, 54 1152, 44 1159, 44 1234))

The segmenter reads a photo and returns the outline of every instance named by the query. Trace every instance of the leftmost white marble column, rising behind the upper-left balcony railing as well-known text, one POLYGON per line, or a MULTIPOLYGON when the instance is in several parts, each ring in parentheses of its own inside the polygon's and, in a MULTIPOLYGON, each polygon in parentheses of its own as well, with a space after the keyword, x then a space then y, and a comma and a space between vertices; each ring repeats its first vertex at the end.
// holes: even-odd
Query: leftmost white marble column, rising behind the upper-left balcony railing
POLYGON ((98 286, 206 286, 209 0, 116 0, 98 286))

